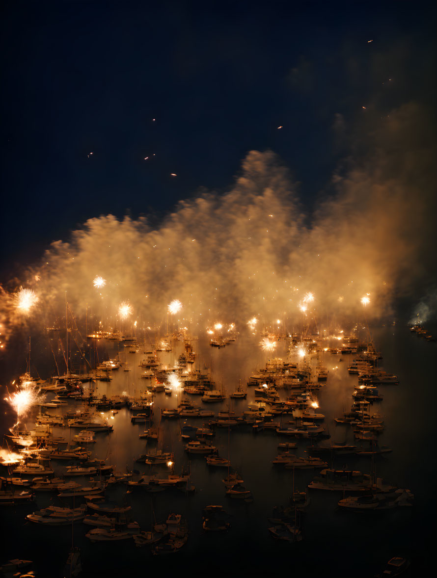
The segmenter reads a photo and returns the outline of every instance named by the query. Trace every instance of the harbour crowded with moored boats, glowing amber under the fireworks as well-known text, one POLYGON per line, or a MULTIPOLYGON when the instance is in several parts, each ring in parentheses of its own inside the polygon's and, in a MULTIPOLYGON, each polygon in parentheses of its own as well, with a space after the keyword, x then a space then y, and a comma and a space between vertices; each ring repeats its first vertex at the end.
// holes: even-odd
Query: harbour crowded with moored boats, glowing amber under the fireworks
MULTIPOLYGON (((418 349, 423 347, 419 340, 406 345, 406 339, 411 339, 408 329, 399 327, 398 338, 384 328, 376 329, 375 335, 383 344, 395 338, 401 346, 416 347, 425 367, 431 362, 429 350, 418 349)), ((92 544, 114 541, 124 544, 124 564, 134 564, 136 553, 145 548, 154 559, 164 553, 189 556, 202 546, 206 560, 213 547, 205 542, 205 534, 210 533, 223 536, 220 541, 238 536, 239 543, 250 537, 260 547, 262 544, 269 556, 282 549, 281 544, 294 544, 294 559, 303 564, 305 544, 312 547, 319 543, 319 550, 329 560, 329 547, 321 545, 329 543, 324 527, 336 532, 336 539, 342 536, 345 543, 349 540, 345 532, 351 527, 355 538, 362 533, 364 539, 371 520, 350 518, 345 526, 342 510, 350 516, 357 516, 357 512, 375 516, 370 512, 377 510, 384 511, 380 515, 390 524, 391 548, 400 549, 410 559, 412 516, 420 507, 417 499, 421 499, 421 487, 417 476, 407 476, 403 470, 405 449, 401 451, 397 436, 402 439, 405 434, 396 408, 399 399, 402 403, 409 399, 409 372, 414 368, 399 354, 389 355, 388 360, 384 356, 377 367, 375 361, 366 359, 358 373, 350 372, 354 358, 366 356, 368 342, 357 338, 357 349, 345 354, 347 362, 338 367, 338 362, 332 361, 335 354, 324 351, 329 339, 329 335, 313 334, 311 342, 306 342, 308 353, 301 356, 302 336, 300 342, 298 335, 284 340, 271 336, 268 343, 272 351, 263 363, 257 353, 263 348, 244 331, 236 336, 232 347, 217 347, 213 357, 207 349, 208 340, 169 335, 166 340, 171 349, 160 351, 162 359, 154 374, 162 372, 162 366, 173 356, 180 358, 179 350, 186 349, 187 343, 192 350, 188 367, 175 366, 164 377, 171 397, 164 389, 155 388, 155 383, 162 383, 162 375, 144 382, 140 353, 144 346, 139 351, 120 351, 114 340, 100 339, 101 354, 117 357, 117 365, 130 371, 120 373, 114 367, 112 379, 105 382, 92 377, 91 372, 90 380, 81 381, 79 396, 67 396, 65 405, 46 407, 48 415, 57 420, 49 418, 50 423, 42 423, 35 403, 20 423, 21 431, 11 428, 3 447, 8 447, 16 460, 11 464, 3 461, 0 466, 3 520, 21 528, 35 546, 39 538, 32 527, 36 525, 55 526, 60 531, 64 528, 65 536, 74 527, 82 568, 90 564, 92 568, 93 562, 88 560, 95 556, 96 546, 92 544), (210 368, 203 364, 201 369, 206 359, 210 368), (320 372, 322 363, 327 368, 326 379, 315 388, 312 376, 320 372), (338 367, 335 371, 329 370, 333 363, 338 367), (217 368, 215 374, 211 367, 217 368), (382 401, 375 395, 357 399, 355 392, 362 377, 373 379, 381 375, 383 367, 402 376, 397 378, 398 387, 392 388, 391 381, 385 380, 380 384, 384 388, 382 401), (222 380, 218 390, 216 384, 222 380), (253 388, 251 380, 261 386, 268 381, 269 385, 253 388), (235 382, 240 383, 238 388, 235 382), (243 390, 245 383, 247 392, 243 390), (202 391, 202 397, 195 395, 197 390, 202 391), (235 391, 245 395, 233 397, 235 391), (205 395, 219 398, 214 399, 213 411, 203 409, 205 395), (99 401, 102 399, 105 406, 99 401), (114 404, 116 409, 110 409, 114 404), (145 409, 147 413, 142 414, 145 409), (343 420, 336 417, 342 412, 343 420), (142 415, 142 420, 132 420, 142 415), (79 433, 75 433, 76 424, 79 433), (145 425, 155 436, 149 437, 145 425), (366 435, 360 438, 357 431, 366 435), (28 440, 24 446, 23 440, 28 440), (287 514, 272 517, 271 512, 278 508, 287 514), (169 521, 167 529, 158 524, 169 509, 184 517, 189 533, 181 529, 180 535, 172 535, 169 521), (90 525, 95 529, 89 529, 90 525)), ((264 347, 265 341, 261 343, 264 347)), ((33 384, 31 376, 25 379, 33 384)), ((21 387, 26 387, 23 383, 21 387)), ((74 391, 74 387, 66 386, 66 390, 74 391)), ((432 395, 430 382, 427 387, 428 395, 432 395)), ((47 390, 44 382, 38 391, 45 399, 57 395, 47 390)), ((408 459, 414 460, 413 455, 408 459)), ((45 539, 56 540, 48 535, 45 539)), ((384 540, 387 542, 387 536, 384 540)), ((232 555, 232 540, 226 547, 232 555)), ((384 554, 387 559, 389 550, 384 554)), ((280 551, 276 555, 282 555, 280 551)), ((37 552, 28 548, 16 554, 37 558, 37 552)), ((68 551, 64 555, 66 558, 68 551)), ((97 560, 100 566, 105 565, 101 554, 97 560)), ((377 566, 376 562, 375 557, 377 566)))

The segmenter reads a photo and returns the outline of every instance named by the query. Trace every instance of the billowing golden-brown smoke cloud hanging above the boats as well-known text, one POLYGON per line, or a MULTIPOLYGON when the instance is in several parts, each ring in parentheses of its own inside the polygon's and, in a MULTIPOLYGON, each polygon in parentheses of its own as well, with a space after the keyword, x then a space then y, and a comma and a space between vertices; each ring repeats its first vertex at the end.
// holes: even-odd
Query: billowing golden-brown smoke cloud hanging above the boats
MULTIPOLYGON (((88 220, 21 281, 39 296, 33 315, 52 325, 65 292, 77 316, 88 312, 112 327, 121 327, 121 302, 133 311, 125 327, 165 323, 168 303, 179 299, 179 324, 206 329, 253 316, 267 324, 301 320, 307 291, 314 294, 309 314, 319 319, 357 316, 366 294, 368 316, 390 313, 399 297, 419 301, 435 283, 429 113, 403 105, 362 134, 332 179, 334 194, 312 215, 279 158, 250 151, 227 192, 180 202, 159 227, 145 217, 88 220), (95 276, 104 287, 94 287, 95 276)), ((12 297, 3 292, 1 300, 5 323, 17 324, 12 297)))

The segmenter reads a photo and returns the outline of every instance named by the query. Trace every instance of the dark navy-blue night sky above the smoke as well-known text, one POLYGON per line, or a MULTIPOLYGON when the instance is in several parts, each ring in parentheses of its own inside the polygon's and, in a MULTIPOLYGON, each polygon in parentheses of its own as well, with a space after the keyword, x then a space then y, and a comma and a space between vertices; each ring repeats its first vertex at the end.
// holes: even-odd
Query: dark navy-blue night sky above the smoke
POLYGON ((336 113, 431 99, 435 14, 399 1, 3 2, 2 278, 87 218, 159 216, 226 187, 251 149, 279 154, 311 207, 349 153, 336 113))

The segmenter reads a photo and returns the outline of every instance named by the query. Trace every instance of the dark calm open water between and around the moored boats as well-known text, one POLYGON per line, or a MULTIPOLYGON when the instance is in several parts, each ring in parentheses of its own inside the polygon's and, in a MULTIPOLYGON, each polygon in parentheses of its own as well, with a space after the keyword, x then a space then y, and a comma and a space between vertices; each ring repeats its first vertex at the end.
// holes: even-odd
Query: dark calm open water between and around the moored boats
MULTIPOLYGON (((414 507, 377 514, 340 512, 337 502, 341 494, 309 490, 311 503, 303 517, 302 542, 276 542, 267 530, 272 525, 267 518, 272 516, 273 506, 288 505, 292 472, 281 466, 272 466, 271 460, 278 453, 277 444, 287 439, 279 438, 272 432, 254 434, 250 427, 235 428, 230 435, 231 462, 242 474, 245 486, 252 491, 253 503, 240 503, 225 497, 221 479, 227 469, 208 468, 202 456, 194 456, 190 460, 192 482, 196 486, 193 495, 186 497, 176 490, 152 495, 141 488, 134 488, 134 491, 126 494, 125 486, 117 486, 109 490, 110 499, 131 505, 132 518, 138 521, 142 529, 150 530, 152 499, 157 521, 164 521, 169 512, 186 516, 190 531, 188 542, 176 554, 155 557, 151 555, 149 547, 136 548, 133 540, 92 544, 85 538, 91 527, 77 523, 74 543, 82 551, 83 576, 145 576, 146 573, 169 576, 175 572, 189 573, 191 576, 273 576, 286 571, 317 578, 367 578, 394 555, 412 560, 409 576, 428 576, 423 562, 432 552, 436 511, 433 442, 437 347, 435 343, 425 342, 410 334, 405 327, 376 328, 374 338, 384 355, 383 368, 395 373, 401 380, 399 386, 381 386, 384 399, 373 406, 373 410, 383 414, 386 423, 379 437, 380 444, 387 444, 394 450, 388 454, 388 458, 375 460, 376 473, 387 482, 412 490, 416 497, 414 507), (211 503, 223 504, 232 514, 231 528, 227 533, 202 533, 202 508, 211 503)), ((259 338, 240 336, 231 346, 220 350, 211 349, 206 342, 198 342, 195 347, 199 360, 212 367, 217 385, 221 387, 223 379, 223 387, 230 393, 238 386, 239 379, 245 384, 256 366, 265 363, 266 357, 260 351, 258 342, 259 338)), ((183 347, 180 342, 176 346, 183 347)), ((284 344, 279 345, 275 353, 277 357, 286 358, 284 347, 284 344)), ((109 353, 117 353, 117 350, 109 350, 109 353)), ((172 356, 177 358, 179 353, 175 349, 172 356)), ((161 352, 161 361, 170 362, 169 354, 165 355, 161 352)), ((114 371, 114 379, 109 384, 99 383, 99 394, 124 391, 133 395, 135 390, 138 393, 144 387, 145 380, 140 379, 138 367, 142 355, 128 354, 120 347, 120 357, 129 362, 131 372, 123 372, 123 369, 114 371)), ((343 410, 349 410, 352 402, 351 393, 357 377, 347 373, 350 358, 350 355, 321 354, 321 361, 329 369, 329 377, 327 386, 317 392, 317 398, 320 411, 327 416, 325 424, 332 439, 352 443, 350 429, 345 425, 336 425, 333 420, 343 410)), ((231 401, 232 409, 236 412, 245 409, 253 399, 253 388, 248 388, 248 391, 247 400, 231 401)), ((285 395, 283 390, 281 395, 285 395)), ((201 404, 198 397, 191 399, 201 404)), ((217 413, 219 409, 227 407, 227 403, 201 405, 217 413)), ((155 404, 176 407, 177 398, 174 393, 172 397, 158 394, 155 404)), ((147 466, 134 462, 145 451, 146 440, 138 438, 144 425, 132 425, 130 418, 131 413, 127 409, 119 410, 112 421, 113 433, 110 436, 98 433, 94 451, 101 458, 109 453, 110 463, 119 470, 128 466, 148 473, 147 466)), ((187 418, 187 423, 194 425, 200 425, 199 421, 187 418)), ((188 464, 188 457, 180 440, 179 421, 162 420, 161 424, 164 426, 164 446, 174 452, 175 472, 180 472, 182 466, 188 464)), ((61 431, 55 429, 55 435, 61 431)), ((65 429, 64 435, 70 435, 68 429, 65 429)), ((213 440, 220 455, 226 457, 228 432, 218 428, 213 440)), ((299 440, 296 454, 308 455, 305 453, 308 443, 308 440, 299 440)), ((62 471, 65 462, 57 464, 55 468, 62 471)), ((369 458, 347 456, 339 457, 334 462, 339 467, 344 464, 370 472, 369 458)), ((163 475, 168 473, 166 466, 157 466, 157 469, 163 475)), ((314 473, 314 470, 297 470, 295 488, 303 490, 313 479, 314 473)), ((83 482, 81 479, 77 481, 83 482)), ((57 578, 64 576, 62 569, 71 546, 71 527, 45 528, 25 523, 27 513, 47 505, 50 499, 61 505, 49 493, 39 492, 37 501, 31 505, 3 506, 0 548, 2 560, 15 557, 34 560, 38 576, 57 578)), ((76 505, 80 500, 76 498, 76 505)))

